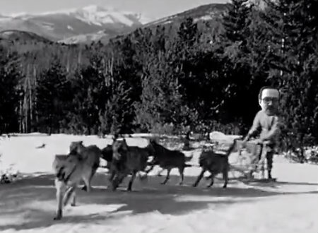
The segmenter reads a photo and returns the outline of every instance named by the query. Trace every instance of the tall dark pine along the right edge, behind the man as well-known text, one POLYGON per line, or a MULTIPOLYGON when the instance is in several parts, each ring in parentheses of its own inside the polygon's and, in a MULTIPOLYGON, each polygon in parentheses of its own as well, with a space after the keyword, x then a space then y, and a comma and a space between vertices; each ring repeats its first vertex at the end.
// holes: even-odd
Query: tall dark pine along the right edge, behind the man
MULTIPOLYGON (((283 92, 283 139, 289 148, 317 143, 318 1, 268 2, 272 83, 283 92)), ((303 155, 300 155, 303 157, 303 155)))

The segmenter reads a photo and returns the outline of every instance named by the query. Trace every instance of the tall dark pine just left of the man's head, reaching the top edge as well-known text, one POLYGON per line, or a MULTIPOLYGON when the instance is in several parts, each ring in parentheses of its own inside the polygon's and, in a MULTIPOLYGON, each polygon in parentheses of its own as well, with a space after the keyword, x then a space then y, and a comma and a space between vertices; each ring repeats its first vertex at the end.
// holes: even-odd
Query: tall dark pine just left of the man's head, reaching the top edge
POLYGON ((218 97, 223 97, 219 107, 218 117, 223 123, 230 121, 252 121, 250 117, 257 111, 257 106, 252 102, 242 105, 242 102, 250 102, 254 87, 251 88, 252 68, 249 60, 251 35, 251 22, 253 13, 252 4, 247 0, 232 0, 228 11, 223 17, 224 31, 222 40, 216 47, 218 62, 223 66, 218 71, 218 97))

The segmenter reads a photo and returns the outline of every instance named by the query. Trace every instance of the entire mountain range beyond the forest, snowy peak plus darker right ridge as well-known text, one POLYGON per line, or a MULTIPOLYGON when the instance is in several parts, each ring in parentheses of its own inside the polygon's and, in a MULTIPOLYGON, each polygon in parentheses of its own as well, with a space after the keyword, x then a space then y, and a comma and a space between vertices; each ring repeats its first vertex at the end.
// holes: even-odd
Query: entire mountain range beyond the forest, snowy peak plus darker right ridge
POLYGON ((207 4, 158 20, 150 20, 140 13, 117 11, 114 8, 95 5, 33 15, 15 13, 11 16, 0 16, 0 32, 33 32, 65 44, 98 40, 107 42, 112 37, 124 35, 139 27, 180 23, 187 17, 192 17, 195 21, 207 20, 218 25, 218 19, 227 8, 228 4, 207 4))

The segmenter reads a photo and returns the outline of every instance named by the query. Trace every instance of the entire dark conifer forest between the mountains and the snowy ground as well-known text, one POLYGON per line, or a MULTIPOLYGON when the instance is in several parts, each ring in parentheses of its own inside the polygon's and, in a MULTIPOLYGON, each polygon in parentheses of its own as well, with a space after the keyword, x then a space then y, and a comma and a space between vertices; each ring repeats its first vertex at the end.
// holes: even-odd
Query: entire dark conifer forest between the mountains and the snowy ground
POLYGON ((317 6, 232 0, 222 18, 139 28, 108 44, 2 45, 0 133, 244 134, 259 89, 274 85, 282 145, 317 143, 317 6))

